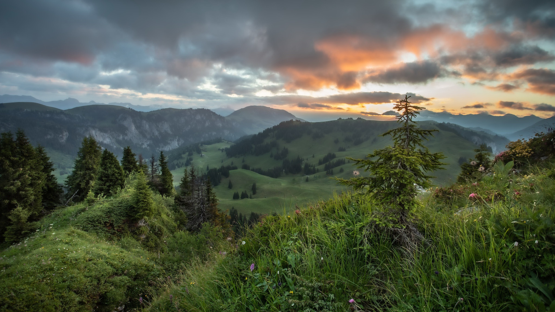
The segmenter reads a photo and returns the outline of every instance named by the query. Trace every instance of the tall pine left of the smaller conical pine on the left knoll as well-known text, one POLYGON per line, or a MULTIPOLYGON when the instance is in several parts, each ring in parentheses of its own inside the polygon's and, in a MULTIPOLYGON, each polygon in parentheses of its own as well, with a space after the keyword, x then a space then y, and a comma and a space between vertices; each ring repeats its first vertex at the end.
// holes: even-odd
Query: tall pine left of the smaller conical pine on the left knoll
POLYGON ((73 172, 65 179, 68 198, 75 195, 75 201, 81 201, 87 196, 97 177, 100 165, 102 147, 93 137, 83 138, 77 158, 73 162, 73 172))

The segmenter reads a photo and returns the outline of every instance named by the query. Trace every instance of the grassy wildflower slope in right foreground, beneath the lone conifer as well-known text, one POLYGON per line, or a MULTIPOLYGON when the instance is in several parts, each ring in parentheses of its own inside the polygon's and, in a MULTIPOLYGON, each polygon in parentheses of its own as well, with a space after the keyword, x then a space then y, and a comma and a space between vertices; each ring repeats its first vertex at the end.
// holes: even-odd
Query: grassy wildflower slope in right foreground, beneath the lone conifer
POLYGON ((415 250, 360 194, 266 217, 210 263, 160 280, 144 310, 553 311, 554 178, 553 162, 497 167, 422 194, 415 250))

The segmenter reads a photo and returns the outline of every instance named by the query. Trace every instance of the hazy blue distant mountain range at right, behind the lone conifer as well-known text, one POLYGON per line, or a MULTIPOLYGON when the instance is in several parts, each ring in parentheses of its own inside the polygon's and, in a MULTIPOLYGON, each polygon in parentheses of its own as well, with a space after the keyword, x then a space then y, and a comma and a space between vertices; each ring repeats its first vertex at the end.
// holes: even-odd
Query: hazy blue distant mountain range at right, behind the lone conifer
POLYGON ((462 127, 466 128, 480 127, 501 135, 513 133, 515 130, 522 130, 542 119, 543 118, 535 115, 517 117, 513 114, 506 114, 503 116, 493 116, 485 113, 453 115, 447 112, 431 112, 426 109, 422 110, 420 115, 416 118, 416 120, 433 120, 436 122, 454 123, 462 125, 462 127))

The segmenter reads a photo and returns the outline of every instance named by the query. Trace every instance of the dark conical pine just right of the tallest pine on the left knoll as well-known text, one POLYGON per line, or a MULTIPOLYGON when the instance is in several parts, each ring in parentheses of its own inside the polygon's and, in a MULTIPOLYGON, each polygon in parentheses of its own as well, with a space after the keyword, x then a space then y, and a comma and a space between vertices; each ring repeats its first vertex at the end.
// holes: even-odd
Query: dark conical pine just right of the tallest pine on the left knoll
POLYGON ((97 180, 93 189, 94 194, 115 194, 123 188, 124 181, 125 173, 122 166, 119 165, 118 158, 114 153, 105 149, 100 158, 97 180))

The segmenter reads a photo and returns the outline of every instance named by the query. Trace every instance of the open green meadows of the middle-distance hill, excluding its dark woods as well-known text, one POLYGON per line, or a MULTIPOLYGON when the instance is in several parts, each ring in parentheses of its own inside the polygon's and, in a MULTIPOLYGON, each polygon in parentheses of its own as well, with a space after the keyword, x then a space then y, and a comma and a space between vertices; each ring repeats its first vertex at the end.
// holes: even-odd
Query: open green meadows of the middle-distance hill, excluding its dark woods
MULTIPOLYGON (((420 122, 419 124, 425 129, 438 129, 435 122, 420 122)), ((251 211, 257 213, 282 212, 284 209, 289 211, 295 205, 327 199, 334 192, 341 193, 346 190, 346 187, 337 184, 331 177, 348 179, 352 177, 352 172, 356 167, 352 166, 352 162, 346 160, 345 164, 333 168, 333 175, 328 175, 325 164, 318 165, 319 160, 323 159, 326 154, 335 153, 334 160, 345 159, 345 157, 364 158, 374 149, 391 144, 390 138, 379 135, 394 127, 397 127, 396 122, 364 119, 341 119, 321 123, 285 122, 251 138, 259 140, 259 145, 275 141, 278 145, 277 148, 274 147, 265 153, 256 154, 254 145, 252 145, 248 152, 228 157, 225 149, 234 144, 222 140, 219 143, 201 145, 201 153, 193 152, 194 148, 189 149, 190 153, 181 149, 183 154, 180 157, 175 154, 170 157, 171 163, 179 166, 171 173, 174 175, 174 184, 178 185, 183 176, 181 165, 189 157, 193 158, 191 164, 204 172, 207 167, 219 168, 223 165, 233 164, 239 169, 231 170, 229 178, 223 177, 219 185, 214 188, 221 209, 234 207, 243 214, 251 211), (276 160, 270 155, 279 153, 282 148, 289 150, 286 158, 293 159, 298 155, 304 159, 302 166, 306 163, 315 165, 318 172, 308 175, 304 172, 282 174, 278 178, 270 178, 241 169, 244 164, 248 164, 250 168, 264 170, 279 167, 283 160, 276 160), (345 148, 345 151, 339 152, 340 148, 345 148), (306 178, 308 178, 308 182, 306 182, 306 178), (232 189, 228 188, 229 180, 233 184, 232 189), (256 183, 258 192, 253 195, 252 199, 232 199, 234 192, 241 193, 246 190, 250 194, 253 183, 256 183)), ((445 129, 445 127, 443 128, 445 129)), ((483 133, 483 135, 488 134, 483 133)), ((435 137, 431 138, 426 145, 432 152, 443 152, 447 157, 444 161, 449 163, 445 166, 446 170, 438 170, 433 173, 437 176, 435 183, 438 185, 453 183, 460 173, 459 160, 461 157, 465 160, 473 157, 473 149, 477 148, 475 144, 457 133, 446 130, 436 132, 435 137)), ((362 174, 364 175, 364 173, 362 174)))

